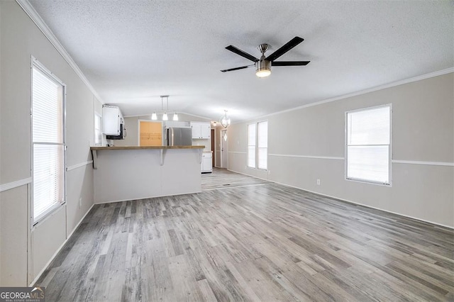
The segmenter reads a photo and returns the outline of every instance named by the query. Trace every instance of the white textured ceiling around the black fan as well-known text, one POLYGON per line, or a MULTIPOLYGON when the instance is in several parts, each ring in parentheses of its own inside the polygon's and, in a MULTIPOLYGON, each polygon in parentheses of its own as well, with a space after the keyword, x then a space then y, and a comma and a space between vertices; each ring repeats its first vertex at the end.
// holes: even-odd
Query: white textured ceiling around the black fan
POLYGON ((233 122, 453 67, 453 1, 30 0, 102 101, 126 116, 160 109, 233 122), (305 67, 222 73, 294 36, 279 60, 305 67))

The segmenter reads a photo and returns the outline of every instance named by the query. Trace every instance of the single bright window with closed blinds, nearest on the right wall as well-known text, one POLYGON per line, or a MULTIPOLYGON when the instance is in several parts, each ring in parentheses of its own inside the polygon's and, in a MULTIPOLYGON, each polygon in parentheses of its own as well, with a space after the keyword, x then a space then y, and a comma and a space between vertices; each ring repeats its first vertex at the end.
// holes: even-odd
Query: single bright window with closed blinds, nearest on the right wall
POLYGON ((346 113, 346 178, 391 184, 391 105, 346 113))

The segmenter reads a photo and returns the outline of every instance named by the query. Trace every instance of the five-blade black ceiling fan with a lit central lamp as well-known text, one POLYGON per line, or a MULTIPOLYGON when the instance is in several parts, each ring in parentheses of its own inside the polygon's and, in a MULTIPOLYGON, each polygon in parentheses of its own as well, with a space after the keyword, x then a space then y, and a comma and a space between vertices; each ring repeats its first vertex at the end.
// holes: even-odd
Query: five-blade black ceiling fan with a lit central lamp
POLYGON ((221 72, 232 72, 233 70, 245 69, 245 68, 255 66, 255 75, 257 75, 257 77, 268 77, 271 74, 272 66, 308 65, 309 62, 311 62, 311 61, 279 61, 279 62, 275 61, 278 57, 280 57, 281 55, 284 55, 285 52, 288 52, 293 47, 297 46, 299 43, 301 43, 303 41, 304 41, 303 38, 295 37, 292 40, 289 40, 289 42, 285 43, 282 47, 280 47, 278 50, 273 52, 268 57, 265 57, 265 52, 268 50, 270 45, 268 45, 266 43, 260 44, 258 46, 258 50, 260 50, 260 52, 262 52, 262 56, 260 57, 260 60, 256 57, 254 57, 253 55, 248 54, 248 52, 244 52, 243 50, 240 50, 233 45, 228 45, 226 47, 226 50, 235 52, 237 55, 240 55, 241 57, 245 57, 246 59, 253 61, 254 64, 246 65, 246 66, 242 66, 242 67, 231 68, 231 69, 223 69, 223 70, 221 70, 221 72))

